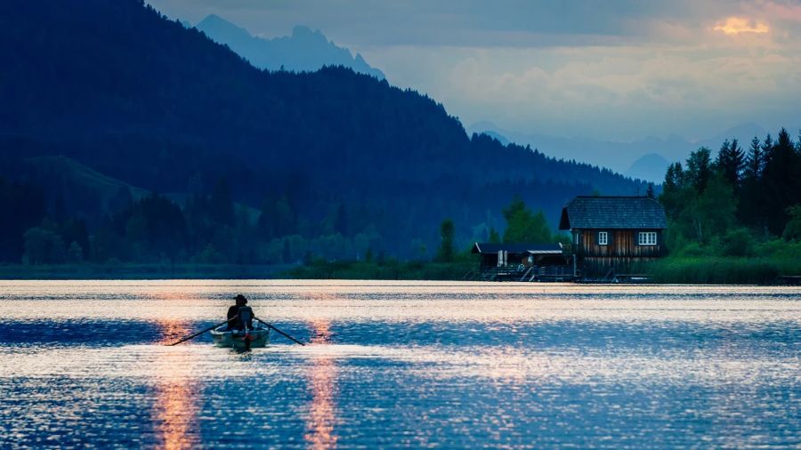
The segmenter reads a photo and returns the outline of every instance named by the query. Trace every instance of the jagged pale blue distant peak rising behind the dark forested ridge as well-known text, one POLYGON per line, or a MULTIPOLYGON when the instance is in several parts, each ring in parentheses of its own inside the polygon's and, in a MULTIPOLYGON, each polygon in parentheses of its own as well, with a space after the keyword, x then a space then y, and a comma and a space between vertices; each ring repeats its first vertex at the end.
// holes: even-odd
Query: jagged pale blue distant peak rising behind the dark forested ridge
POLYGON ((214 41, 228 45, 257 68, 300 72, 318 70, 323 66, 343 66, 384 79, 384 73, 370 67, 359 53, 353 56, 350 50, 328 41, 319 30, 313 31, 308 27, 293 28, 292 36, 263 39, 251 36, 245 28, 212 14, 195 28, 214 41))

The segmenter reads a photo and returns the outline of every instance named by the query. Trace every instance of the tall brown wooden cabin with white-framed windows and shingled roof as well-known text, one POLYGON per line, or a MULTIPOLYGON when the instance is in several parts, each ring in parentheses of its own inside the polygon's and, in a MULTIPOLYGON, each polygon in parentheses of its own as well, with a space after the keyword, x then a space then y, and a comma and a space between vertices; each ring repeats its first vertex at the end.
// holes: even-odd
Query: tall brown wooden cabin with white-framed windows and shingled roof
POLYGON ((665 209, 651 197, 576 197, 562 208, 574 275, 611 279, 664 256, 665 209))

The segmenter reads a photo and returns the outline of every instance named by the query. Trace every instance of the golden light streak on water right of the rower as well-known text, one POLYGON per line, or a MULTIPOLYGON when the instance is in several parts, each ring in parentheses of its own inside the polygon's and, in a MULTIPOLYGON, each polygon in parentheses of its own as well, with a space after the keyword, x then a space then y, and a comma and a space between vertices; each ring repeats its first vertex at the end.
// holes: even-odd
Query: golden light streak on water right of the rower
MULTIPOLYGON (((313 320, 311 322, 312 344, 326 344, 330 341, 330 322, 313 320)), ((309 384, 312 387, 312 405, 303 436, 314 449, 336 447, 336 364, 329 355, 314 357, 309 370, 309 384)))

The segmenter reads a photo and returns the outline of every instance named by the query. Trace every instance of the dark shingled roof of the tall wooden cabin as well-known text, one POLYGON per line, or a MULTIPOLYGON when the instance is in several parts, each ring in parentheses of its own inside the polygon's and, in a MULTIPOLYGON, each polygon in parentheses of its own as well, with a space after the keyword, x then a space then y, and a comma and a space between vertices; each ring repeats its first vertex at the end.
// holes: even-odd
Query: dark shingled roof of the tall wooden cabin
POLYGON ((667 218, 651 197, 581 196, 562 208, 559 229, 667 229, 667 218))

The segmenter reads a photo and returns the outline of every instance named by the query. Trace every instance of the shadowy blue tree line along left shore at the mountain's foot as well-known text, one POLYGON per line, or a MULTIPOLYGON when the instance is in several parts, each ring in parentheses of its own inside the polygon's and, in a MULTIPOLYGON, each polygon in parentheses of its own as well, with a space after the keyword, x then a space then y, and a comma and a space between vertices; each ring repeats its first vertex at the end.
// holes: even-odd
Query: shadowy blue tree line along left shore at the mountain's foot
MULTIPOLYGON (((124 197, 124 196, 123 196, 124 197)), ((0 178, 0 262, 294 264, 383 257, 372 223, 349 219, 344 205, 331 205, 320 222, 304 220, 284 196, 261 208, 232 200, 228 184, 180 204, 151 193, 127 199, 99 220, 70 215, 35 185, 0 178)))

